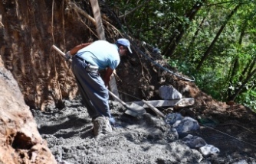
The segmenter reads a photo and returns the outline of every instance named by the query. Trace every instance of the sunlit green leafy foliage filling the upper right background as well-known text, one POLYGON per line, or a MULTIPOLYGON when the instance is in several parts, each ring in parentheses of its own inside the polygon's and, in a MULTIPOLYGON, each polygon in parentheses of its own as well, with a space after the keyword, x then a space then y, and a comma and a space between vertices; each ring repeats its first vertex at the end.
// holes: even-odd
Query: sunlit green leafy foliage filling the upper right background
MULTIPOLYGON (((235 94, 250 74, 246 68, 256 58, 256 6, 253 1, 110 0, 108 4, 118 11, 118 15, 135 9, 121 18, 126 32, 161 50, 168 46, 166 44, 171 37, 181 33, 179 29, 184 30, 175 53, 169 58, 169 64, 187 76, 194 76, 196 85, 213 98, 226 101, 229 94, 235 94), (190 21, 185 15, 199 2, 204 4, 190 21), (228 14, 240 3, 242 5, 238 11, 227 20, 228 14), (212 45, 201 69, 195 71, 202 55, 226 21, 222 34, 212 45), (235 61, 238 61, 238 65, 234 68, 235 61)), ((254 69, 256 66, 251 66, 251 70, 254 69)), ((248 90, 247 87, 250 88, 254 79, 255 75, 246 82, 235 99, 251 108, 255 108, 255 88, 248 90)))

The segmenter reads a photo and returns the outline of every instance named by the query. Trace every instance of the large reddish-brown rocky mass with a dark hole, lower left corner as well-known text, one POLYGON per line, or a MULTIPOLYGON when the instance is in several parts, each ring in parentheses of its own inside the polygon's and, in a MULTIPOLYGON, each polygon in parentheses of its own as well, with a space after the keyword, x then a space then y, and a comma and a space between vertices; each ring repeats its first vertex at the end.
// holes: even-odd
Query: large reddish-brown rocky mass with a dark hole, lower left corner
POLYGON ((18 84, 0 64, 0 163, 57 163, 18 84))

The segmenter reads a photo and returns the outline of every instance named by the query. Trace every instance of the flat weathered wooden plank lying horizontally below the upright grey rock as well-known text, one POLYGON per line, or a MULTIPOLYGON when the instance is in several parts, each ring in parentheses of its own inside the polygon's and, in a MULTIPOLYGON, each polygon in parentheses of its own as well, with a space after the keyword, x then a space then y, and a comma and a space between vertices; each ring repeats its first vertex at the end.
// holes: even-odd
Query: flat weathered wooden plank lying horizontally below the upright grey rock
MULTIPOLYGON (((145 105, 143 101, 133 101, 133 102, 126 102, 127 104, 135 103, 137 105, 143 106, 144 108, 147 108, 148 106, 145 105)), ((195 103, 194 98, 182 98, 179 100, 149 100, 147 101, 150 105, 153 105, 154 107, 173 107, 173 106, 179 106, 179 107, 185 107, 190 106, 195 103)))

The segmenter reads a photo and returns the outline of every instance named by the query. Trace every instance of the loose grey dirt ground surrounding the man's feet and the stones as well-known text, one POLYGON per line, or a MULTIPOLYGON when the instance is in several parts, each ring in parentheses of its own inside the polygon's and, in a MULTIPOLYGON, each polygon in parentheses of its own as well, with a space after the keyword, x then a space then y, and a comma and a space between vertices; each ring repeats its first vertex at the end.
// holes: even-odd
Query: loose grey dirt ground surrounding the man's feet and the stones
MULTIPOLYGON (((209 104, 208 104, 209 105, 209 104)), ((32 110, 41 136, 48 141, 51 152, 59 163, 254 163, 256 140, 253 122, 247 124, 240 113, 252 115, 246 108, 237 108, 225 117, 205 117, 200 130, 191 134, 202 137, 216 146, 218 155, 204 157, 190 149, 182 137, 162 118, 147 109, 147 114, 132 117, 123 114, 125 108, 110 101, 111 114, 116 120, 113 133, 94 137, 93 124, 79 97, 64 101, 64 108, 48 111, 32 110), (233 117, 233 120, 231 120, 233 117), (208 121, 208 122, 206 122, 208 121), (215 121, 214 124, 209 121, 215 121), (241 121, 241 122, 240 122, 241 121), (208 124, 207 124, 208 123, 208 124)), ((219 106, 221 108, 221 106, 219 106)), ((222 108, 222 110, 224 110, 222 108)), ((222 111, 221 110, 221 111, 222 111)), ((226 110, 231 110, 228 107, 226 110)), ((209 111, 205 109, 204 114, 209 111)), ((212 114, 209 112, 209 114, 212 114)), ((198 119, 199 120, 199 119, 198 119)), ((254 120, 255 121, 255 116, 254 120)), ((201 124, 202 123, 202 124, 201 124)))

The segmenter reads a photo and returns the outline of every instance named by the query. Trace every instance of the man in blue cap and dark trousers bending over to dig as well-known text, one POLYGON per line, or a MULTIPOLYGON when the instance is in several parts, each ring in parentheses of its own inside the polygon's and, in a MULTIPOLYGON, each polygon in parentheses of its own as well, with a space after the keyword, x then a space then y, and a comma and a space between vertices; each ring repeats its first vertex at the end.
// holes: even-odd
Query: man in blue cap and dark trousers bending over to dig
POLYGON ((72 57, 72 71, 77 80, 78 90, 94 124, 94 135, 111 133, 109 94, 107 85, 114 69, 120 63, 120 56, 132 53, 130 42, 120 38, 116 43, 97 40, 82 43, 66 53, 72 57), (106 69, 103 79, 99 70, 106 69))

